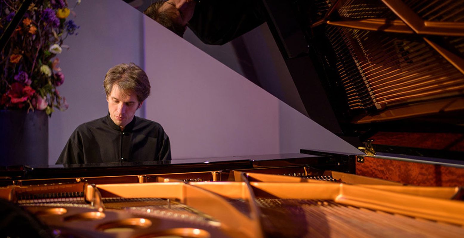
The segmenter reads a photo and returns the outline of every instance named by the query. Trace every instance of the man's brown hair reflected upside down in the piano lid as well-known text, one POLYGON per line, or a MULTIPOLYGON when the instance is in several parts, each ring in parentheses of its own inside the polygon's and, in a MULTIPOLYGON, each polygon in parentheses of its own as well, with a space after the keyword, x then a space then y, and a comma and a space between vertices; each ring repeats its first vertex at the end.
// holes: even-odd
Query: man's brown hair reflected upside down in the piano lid
POLYGON ((174 22, 174 18, 177 17, 172 11, 160 11, 160 7, 165 3, 164 0, 156 1, 143 12, 149 18, 154 19, 162 26, 168 28, 178 36, 183 37, 185 32, 185 26, 174 22))

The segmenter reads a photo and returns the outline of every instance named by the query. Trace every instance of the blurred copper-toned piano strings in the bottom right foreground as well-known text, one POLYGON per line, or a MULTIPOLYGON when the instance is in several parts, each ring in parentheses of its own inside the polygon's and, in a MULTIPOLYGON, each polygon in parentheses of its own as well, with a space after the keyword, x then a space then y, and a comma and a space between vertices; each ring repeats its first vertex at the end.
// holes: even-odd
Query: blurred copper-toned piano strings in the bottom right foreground
POLYGON ((267 237, 374 238, 464 235, 464 230, 459 225, 345 206, 333 200, 258 198, 257 202, 268 218, 263 224, 267 237))

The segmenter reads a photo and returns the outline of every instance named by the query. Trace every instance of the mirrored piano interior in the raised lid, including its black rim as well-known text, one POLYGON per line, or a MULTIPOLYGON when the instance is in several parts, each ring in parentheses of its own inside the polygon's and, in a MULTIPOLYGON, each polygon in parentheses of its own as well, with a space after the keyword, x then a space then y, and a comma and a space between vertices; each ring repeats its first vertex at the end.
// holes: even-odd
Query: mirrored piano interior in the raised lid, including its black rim
POLYGON ((357 147, 463 160, 464 2, 263 2, 311 119, 357 147))

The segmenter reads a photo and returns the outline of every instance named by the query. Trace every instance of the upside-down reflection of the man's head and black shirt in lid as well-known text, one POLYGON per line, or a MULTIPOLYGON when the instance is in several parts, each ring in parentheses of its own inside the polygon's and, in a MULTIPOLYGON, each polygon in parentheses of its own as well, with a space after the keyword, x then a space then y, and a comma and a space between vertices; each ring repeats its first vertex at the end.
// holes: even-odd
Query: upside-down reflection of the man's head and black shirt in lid
POLYGON ((226 44, 264 23, 260 0, 155 0, 143 12, 180 37, 187 26, 205 44, 226 44))

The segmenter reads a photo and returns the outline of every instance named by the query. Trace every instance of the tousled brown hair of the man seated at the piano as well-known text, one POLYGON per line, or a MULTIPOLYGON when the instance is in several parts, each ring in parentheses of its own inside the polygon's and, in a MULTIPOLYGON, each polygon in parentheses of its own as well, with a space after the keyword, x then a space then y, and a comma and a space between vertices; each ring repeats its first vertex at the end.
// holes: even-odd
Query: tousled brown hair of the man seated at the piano
POLYGON ((124 94, 135 93, 139 102, 144 101, 150 95, 148 76, 143 69, 134 63, 121 63, 108 70, 103 81, 107 98, 114 85, 119 86, 124 94))

